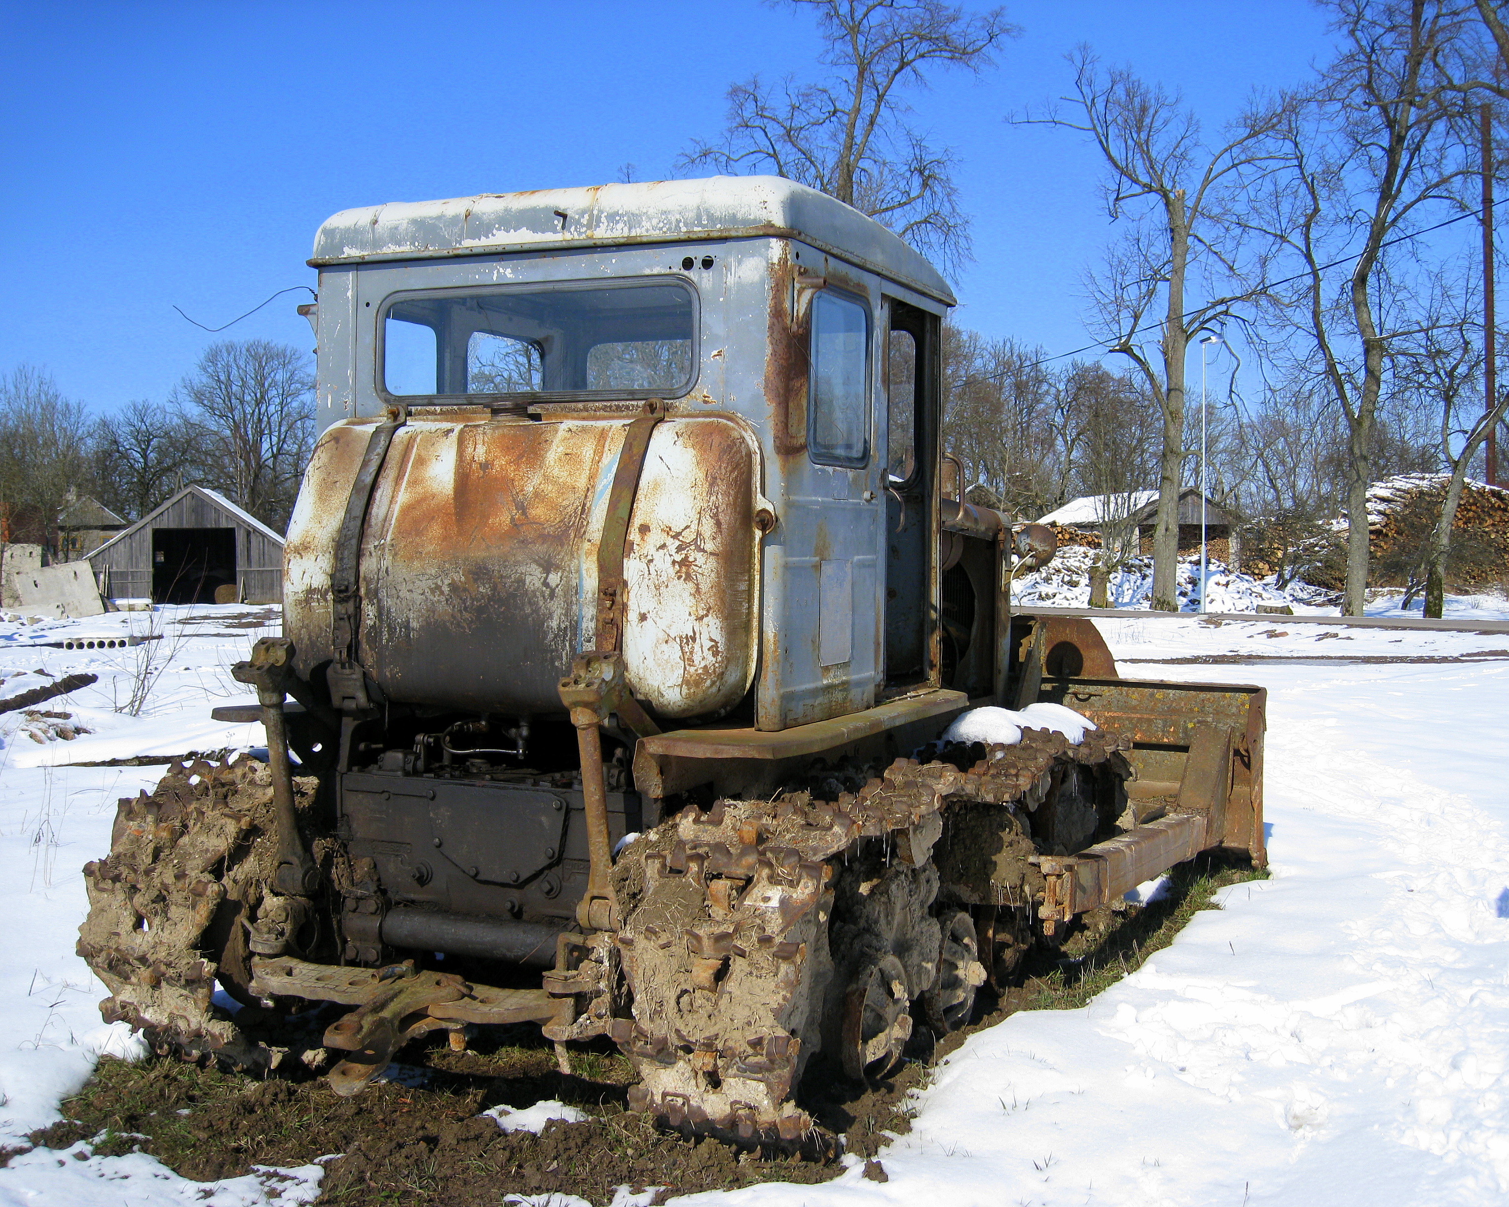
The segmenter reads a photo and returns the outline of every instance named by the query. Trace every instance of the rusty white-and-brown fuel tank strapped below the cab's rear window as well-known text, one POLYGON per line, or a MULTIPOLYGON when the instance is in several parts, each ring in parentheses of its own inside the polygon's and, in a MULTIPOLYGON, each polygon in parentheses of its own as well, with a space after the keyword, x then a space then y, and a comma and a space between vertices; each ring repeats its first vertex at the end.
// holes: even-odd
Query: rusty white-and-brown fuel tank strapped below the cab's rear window
MULTIPOLYGON (((632 416, 426 410, 392 436, 359 542, 356 658, 389 700, 561 712, 592 649, 598 543, 632 416)), ((330 575, 374 419, 327 428, 285 549, 299 670, 332 656, 330 575)), ((623 656, 665 718, 715 715, 754 674, 759 445, 729 415, 668 415, 644 456, 625 543, 623 656)))

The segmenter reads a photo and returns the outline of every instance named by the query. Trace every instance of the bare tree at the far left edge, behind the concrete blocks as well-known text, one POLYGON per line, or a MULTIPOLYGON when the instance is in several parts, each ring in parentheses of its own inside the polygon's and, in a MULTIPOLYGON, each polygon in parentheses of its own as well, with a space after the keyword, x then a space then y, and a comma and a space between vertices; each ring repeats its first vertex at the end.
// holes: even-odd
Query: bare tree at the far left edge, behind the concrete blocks
POLYGON ((38 543, 56 552, 57 508, 86 481, 88 418, 51 374, 20 365, 0 379, 0 543, 38 543))

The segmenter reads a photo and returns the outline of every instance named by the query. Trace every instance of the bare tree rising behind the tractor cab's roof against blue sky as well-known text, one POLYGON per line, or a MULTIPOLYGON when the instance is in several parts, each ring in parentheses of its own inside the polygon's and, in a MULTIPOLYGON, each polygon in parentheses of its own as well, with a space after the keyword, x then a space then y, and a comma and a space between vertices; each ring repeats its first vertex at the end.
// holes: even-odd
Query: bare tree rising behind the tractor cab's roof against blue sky
POLYGON ((969 260, 954 157, 907 121, 907 89, 939 68, 981 72, 1017 27, 1002 9, 967 15, 940 0, 789 0, 816 11, 822 83, 756 77, 729 89, 715 142, 694 142, 681 167, 774 172, 884 222, 946 266, 969 260))

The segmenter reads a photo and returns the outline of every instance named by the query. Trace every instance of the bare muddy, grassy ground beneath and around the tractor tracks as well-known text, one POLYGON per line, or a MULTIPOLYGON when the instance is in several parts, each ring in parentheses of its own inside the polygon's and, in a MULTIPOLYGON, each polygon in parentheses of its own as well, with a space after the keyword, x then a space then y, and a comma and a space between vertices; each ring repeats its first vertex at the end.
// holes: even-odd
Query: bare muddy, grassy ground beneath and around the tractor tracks
POLYGON ((65 1121, 30 1141, 66 1148, 97 1138, 95 1151, 140 1148, 196 1180, 341 1154, 324 1163, 321 1204, 463 1207, 551 1190, 605 1204, 623 1184, 661 1186, 659 1198, 668 1198, 758 1181, 827 1181, 844 1169, 844 1153, 872 1159, 866 1174, 884 1178, 884 1159, 874 1159, 887 1133, 907 1130, 908 1091, 927 1082, 940 1056, 1014 1011, 1083 1005, 1166 946, 1197 910, 1212 908, 1218 887, 1259 875, 1219 855, 1176 869, 1160 901, 1089 917, 1061 952, 1035 958, 1020 987, 982 996, 969 1027, 934 1041, 919 1026, 905 1064, 881 1083, 847 1083, 815 1064, 798 1098, 822 1133, 806 1153, 739 1151, 658 1132, 626 1109, 632 1071, 616 1049, 604 1043, 573 1052, 572 1074, 564 1076, 551 1046, 528 1027, 474 1037, 462 1053, 451 1052, 444 1035, 413 1044, 392 1080, 356 1098, 337 1097, 297 1062, 261 1079, 171 1058, 137 1065, 106 1059, 63 1103, 65 1121), (501 1103, 525 1107, 546 1098, 592 1118, 548 1124, 540 1136, 506 1133, 478 1118, 501 1103))

